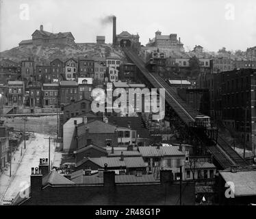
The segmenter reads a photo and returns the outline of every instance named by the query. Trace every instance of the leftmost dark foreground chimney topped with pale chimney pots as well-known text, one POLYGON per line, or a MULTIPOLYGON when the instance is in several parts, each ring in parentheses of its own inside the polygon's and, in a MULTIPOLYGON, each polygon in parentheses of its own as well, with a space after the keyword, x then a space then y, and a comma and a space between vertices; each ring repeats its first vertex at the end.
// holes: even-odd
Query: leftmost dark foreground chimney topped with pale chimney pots
POLYGON ((38 169, 38 167, 31 168, 31 175, 30 175, 31 196, 33 198, 36 198, 36 196, 40 196, 41 188, 42 188, 42 174, 38 169))

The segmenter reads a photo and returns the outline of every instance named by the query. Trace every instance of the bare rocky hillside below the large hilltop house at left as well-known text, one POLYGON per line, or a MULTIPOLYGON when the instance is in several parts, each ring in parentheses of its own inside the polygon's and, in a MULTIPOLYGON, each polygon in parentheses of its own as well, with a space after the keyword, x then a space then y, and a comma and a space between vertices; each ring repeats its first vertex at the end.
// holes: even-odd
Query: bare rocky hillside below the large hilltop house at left
POLYGON ((21 62, 31 57, 37 64, 49 64, 51 60, 60 58, 67 60, 70 57, 107 57, 118 56, 125 61, 125 55, 120 49, 112 48, 111 44, 78 43, 74 45, 49 44, 47 46, 27 45, 14 47, 0 53, 0 60, 9 59, 14 62, 21 62))

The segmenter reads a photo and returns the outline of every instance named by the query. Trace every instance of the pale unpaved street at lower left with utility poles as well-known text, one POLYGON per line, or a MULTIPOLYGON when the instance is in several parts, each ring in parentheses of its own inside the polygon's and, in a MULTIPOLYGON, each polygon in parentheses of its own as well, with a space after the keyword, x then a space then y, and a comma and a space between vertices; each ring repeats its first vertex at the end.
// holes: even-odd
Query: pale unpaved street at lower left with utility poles
MULTIPOLYGON (((3 201, 12 200, 19 191, 26 188, 30 184, 31 168, 38 166, 40 158, 48 158, 49 139, 45 138, 49 136, 41 133, 35 133, 35 136, 26 141, 26 149, 24 149, 24 142, 21 142, 18 150, 12 155, 12 177, 10 177, 10 165, 8 170, 0 176, 0 205, 3 205, 3 201)), ((56 146, 57 143, 51 140, 51 162, 58 166, 60 159, 54 160, 56 146)))

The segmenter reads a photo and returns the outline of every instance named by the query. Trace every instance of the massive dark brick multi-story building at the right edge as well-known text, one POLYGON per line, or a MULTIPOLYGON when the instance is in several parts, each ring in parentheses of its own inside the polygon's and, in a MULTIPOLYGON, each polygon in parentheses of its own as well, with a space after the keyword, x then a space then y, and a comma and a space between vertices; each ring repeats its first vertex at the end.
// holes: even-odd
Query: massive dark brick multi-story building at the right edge
POLYGON ((220 73, 222 121, 239 133, 248 149, 256 149, 256 71, 240 69, 220 73))

